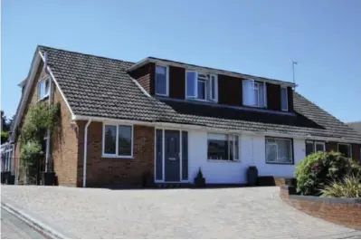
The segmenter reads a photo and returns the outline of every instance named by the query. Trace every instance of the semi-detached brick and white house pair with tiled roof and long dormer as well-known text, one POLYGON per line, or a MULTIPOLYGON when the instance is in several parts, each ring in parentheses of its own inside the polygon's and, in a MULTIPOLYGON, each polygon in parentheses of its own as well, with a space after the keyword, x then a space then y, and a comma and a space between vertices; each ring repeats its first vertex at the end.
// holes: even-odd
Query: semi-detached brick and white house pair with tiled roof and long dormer
POLYGON ((30 104, 59 102, 46 162, 71 187, 241 184, 246 170, 292 177, 318 150, 360 158, 361 134, 302 97, 294 83, 147 57, 125 62, 38 46, 14 120, 14 168, 30 104), (44 63, 45 62, 45 63, 44 63), (16 134, 17 133, 17 134, 16 134))

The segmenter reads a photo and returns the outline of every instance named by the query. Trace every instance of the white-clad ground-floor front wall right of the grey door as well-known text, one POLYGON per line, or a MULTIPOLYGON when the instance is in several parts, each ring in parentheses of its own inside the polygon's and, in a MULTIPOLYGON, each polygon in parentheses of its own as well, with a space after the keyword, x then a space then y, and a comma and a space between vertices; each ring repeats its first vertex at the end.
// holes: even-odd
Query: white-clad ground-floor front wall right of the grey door
POLYGON ((202 168, 207 183, 246 183, 247 168, 256 166, 260 176, 292 177, 299 160, 305 158, 305 139, 293 139, 294 165, 266 164, 265 136, 240 135, 240 161, 207 159, 207 132, 188 131, 189 181, 193 182, 202 168))

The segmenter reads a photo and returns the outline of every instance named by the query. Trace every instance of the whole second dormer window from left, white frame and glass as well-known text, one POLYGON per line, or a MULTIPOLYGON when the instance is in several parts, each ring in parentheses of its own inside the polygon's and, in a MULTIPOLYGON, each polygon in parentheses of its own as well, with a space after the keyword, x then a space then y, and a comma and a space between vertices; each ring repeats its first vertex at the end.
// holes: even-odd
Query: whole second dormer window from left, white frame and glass
POLYGON ((199 101, 218 101, 217 76, 196 71, 186 71, 185 97, 199 101))

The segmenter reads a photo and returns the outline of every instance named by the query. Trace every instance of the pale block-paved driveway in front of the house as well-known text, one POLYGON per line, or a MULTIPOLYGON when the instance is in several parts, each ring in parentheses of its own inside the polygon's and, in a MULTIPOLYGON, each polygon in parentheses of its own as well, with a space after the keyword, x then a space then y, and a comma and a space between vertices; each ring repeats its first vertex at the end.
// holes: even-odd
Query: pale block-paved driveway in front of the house
POLYGON ((4 186, 2 201, 78 238, 334 238, 355 230, 308 216, 278 187, 109 190, 4 186))

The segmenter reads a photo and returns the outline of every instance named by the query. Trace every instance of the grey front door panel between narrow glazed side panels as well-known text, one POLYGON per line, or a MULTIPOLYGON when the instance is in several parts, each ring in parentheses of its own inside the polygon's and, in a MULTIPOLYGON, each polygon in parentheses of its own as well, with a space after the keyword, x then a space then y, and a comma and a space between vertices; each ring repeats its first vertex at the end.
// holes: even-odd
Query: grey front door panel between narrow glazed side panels
POLYGON ((165 180, 180 181, 179 130, 165 130, 165 180))

